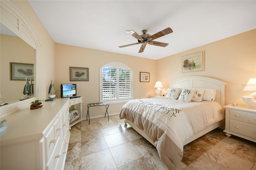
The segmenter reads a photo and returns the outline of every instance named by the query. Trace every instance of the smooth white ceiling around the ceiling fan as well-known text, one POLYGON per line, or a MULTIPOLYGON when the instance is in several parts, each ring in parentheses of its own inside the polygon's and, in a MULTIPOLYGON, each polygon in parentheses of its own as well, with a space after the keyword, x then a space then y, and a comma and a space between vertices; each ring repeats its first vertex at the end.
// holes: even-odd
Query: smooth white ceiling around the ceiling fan
POLYGON ((256 28, 256 0, 28 0, 56 43, 149 59, 160 59, 256 28), (154 41, 166 47, 140 44, 126 33, 165 28, 173 33, 154 41))

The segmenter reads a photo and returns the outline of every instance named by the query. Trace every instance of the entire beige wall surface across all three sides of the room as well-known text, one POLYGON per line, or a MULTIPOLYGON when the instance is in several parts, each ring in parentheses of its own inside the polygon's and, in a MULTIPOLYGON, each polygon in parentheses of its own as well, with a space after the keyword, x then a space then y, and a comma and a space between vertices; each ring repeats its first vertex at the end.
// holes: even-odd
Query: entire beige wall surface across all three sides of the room
MULTIPOLYGON (((55 44, 27 1, 12 1, 12 3, 26 17, 41 43, 41 47, 37 49, 36 60, 38 99, 48 98, 47 92, 52 78, 54 79, 56 90, 59 89, 60 83, 69 83, 70 66, 89 67, 90 81, 76 82, 78 95, 84 97, 83 117, 85 117, 87 103, 99 102, 99 68, 105 63, 118 61, 133 69, 134 99, 154 94, 156 80, 162 81, 164 86, 163 93, 166 93, 170 81, 180 77, 199 75, 220 79, 228 83, 225 93, 226 104, 236 102, 240 105, 246 105, 241 96, 250 94, 250 92, 242 90, 248 79, 256 75, 256 30, 155 61, 106 51, 55 44), (205 71, 181 73, 180 57, 198 51, 205 52, 205 71), (150 83, 139 82, 140 71, 150 73, 150 83)), ((60 93, 57 92, 57 95, 60 96, 60 93)), ((121 106, 122 104, 110 105, 109 113, 119 112, 121 106)), ((102 115, 102 112, 95 110, 94 113, 92 110, 91 116, 102 115)), ((103 111, 103 109, 101 110, 103 111)))

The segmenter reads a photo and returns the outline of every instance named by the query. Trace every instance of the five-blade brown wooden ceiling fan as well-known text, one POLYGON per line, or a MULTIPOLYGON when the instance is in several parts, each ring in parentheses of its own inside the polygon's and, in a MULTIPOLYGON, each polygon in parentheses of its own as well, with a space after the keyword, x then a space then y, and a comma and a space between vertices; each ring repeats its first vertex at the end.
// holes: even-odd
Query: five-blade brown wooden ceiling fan
POLYGON ((162 36, 165 36, 167 34, 170 34, 172 33, 172 29, 171 28, 166 28, 154 35, 149 35, 149 34, 146 34, 148 31, 147 30, 142 30, 142 35, 138 35, 134 30, 128 30, 126 31, 128 34, 131 34, 132 36, 134 36, 134 38, 136 38, 138 40, 137 43, 131 43, 131 44, 127 44, 127 45, 122 45, 122 46, 119 46, 120 48, 122 47, 128 47, 128 46, 131 46, 131 45, 135 45, 135 44, 140 44, 142 43, 141 47, 140 47, 140 50, 139 50, 139 53, 142 53, 146 47, 147 44, 150 44, 150 45, 156 45, 156 46, 160 46, 160 47, 166 47, 168 45, 168 43, 162 43, 162 42, 156 42, 156 41, 152 41, 156 38, 159 38, 159 37, 162 37, 162 36))

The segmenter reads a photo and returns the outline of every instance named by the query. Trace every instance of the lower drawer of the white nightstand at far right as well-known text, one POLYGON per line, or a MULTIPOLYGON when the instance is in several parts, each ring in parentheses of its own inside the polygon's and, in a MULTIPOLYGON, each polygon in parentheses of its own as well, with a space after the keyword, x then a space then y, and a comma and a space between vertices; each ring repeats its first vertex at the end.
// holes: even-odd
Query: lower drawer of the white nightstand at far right
POLYGON ((230 120, 230 131, 256 139, 256 126, 230 120))

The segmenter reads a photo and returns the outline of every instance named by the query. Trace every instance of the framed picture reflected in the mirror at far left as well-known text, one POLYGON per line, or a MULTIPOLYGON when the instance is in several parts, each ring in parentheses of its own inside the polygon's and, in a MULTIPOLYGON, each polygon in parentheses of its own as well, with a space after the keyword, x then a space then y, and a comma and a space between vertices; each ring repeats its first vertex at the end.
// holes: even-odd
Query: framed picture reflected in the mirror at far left
POLYGON ((34 64, 10 63, 10 80, 34 80, 34 64))

